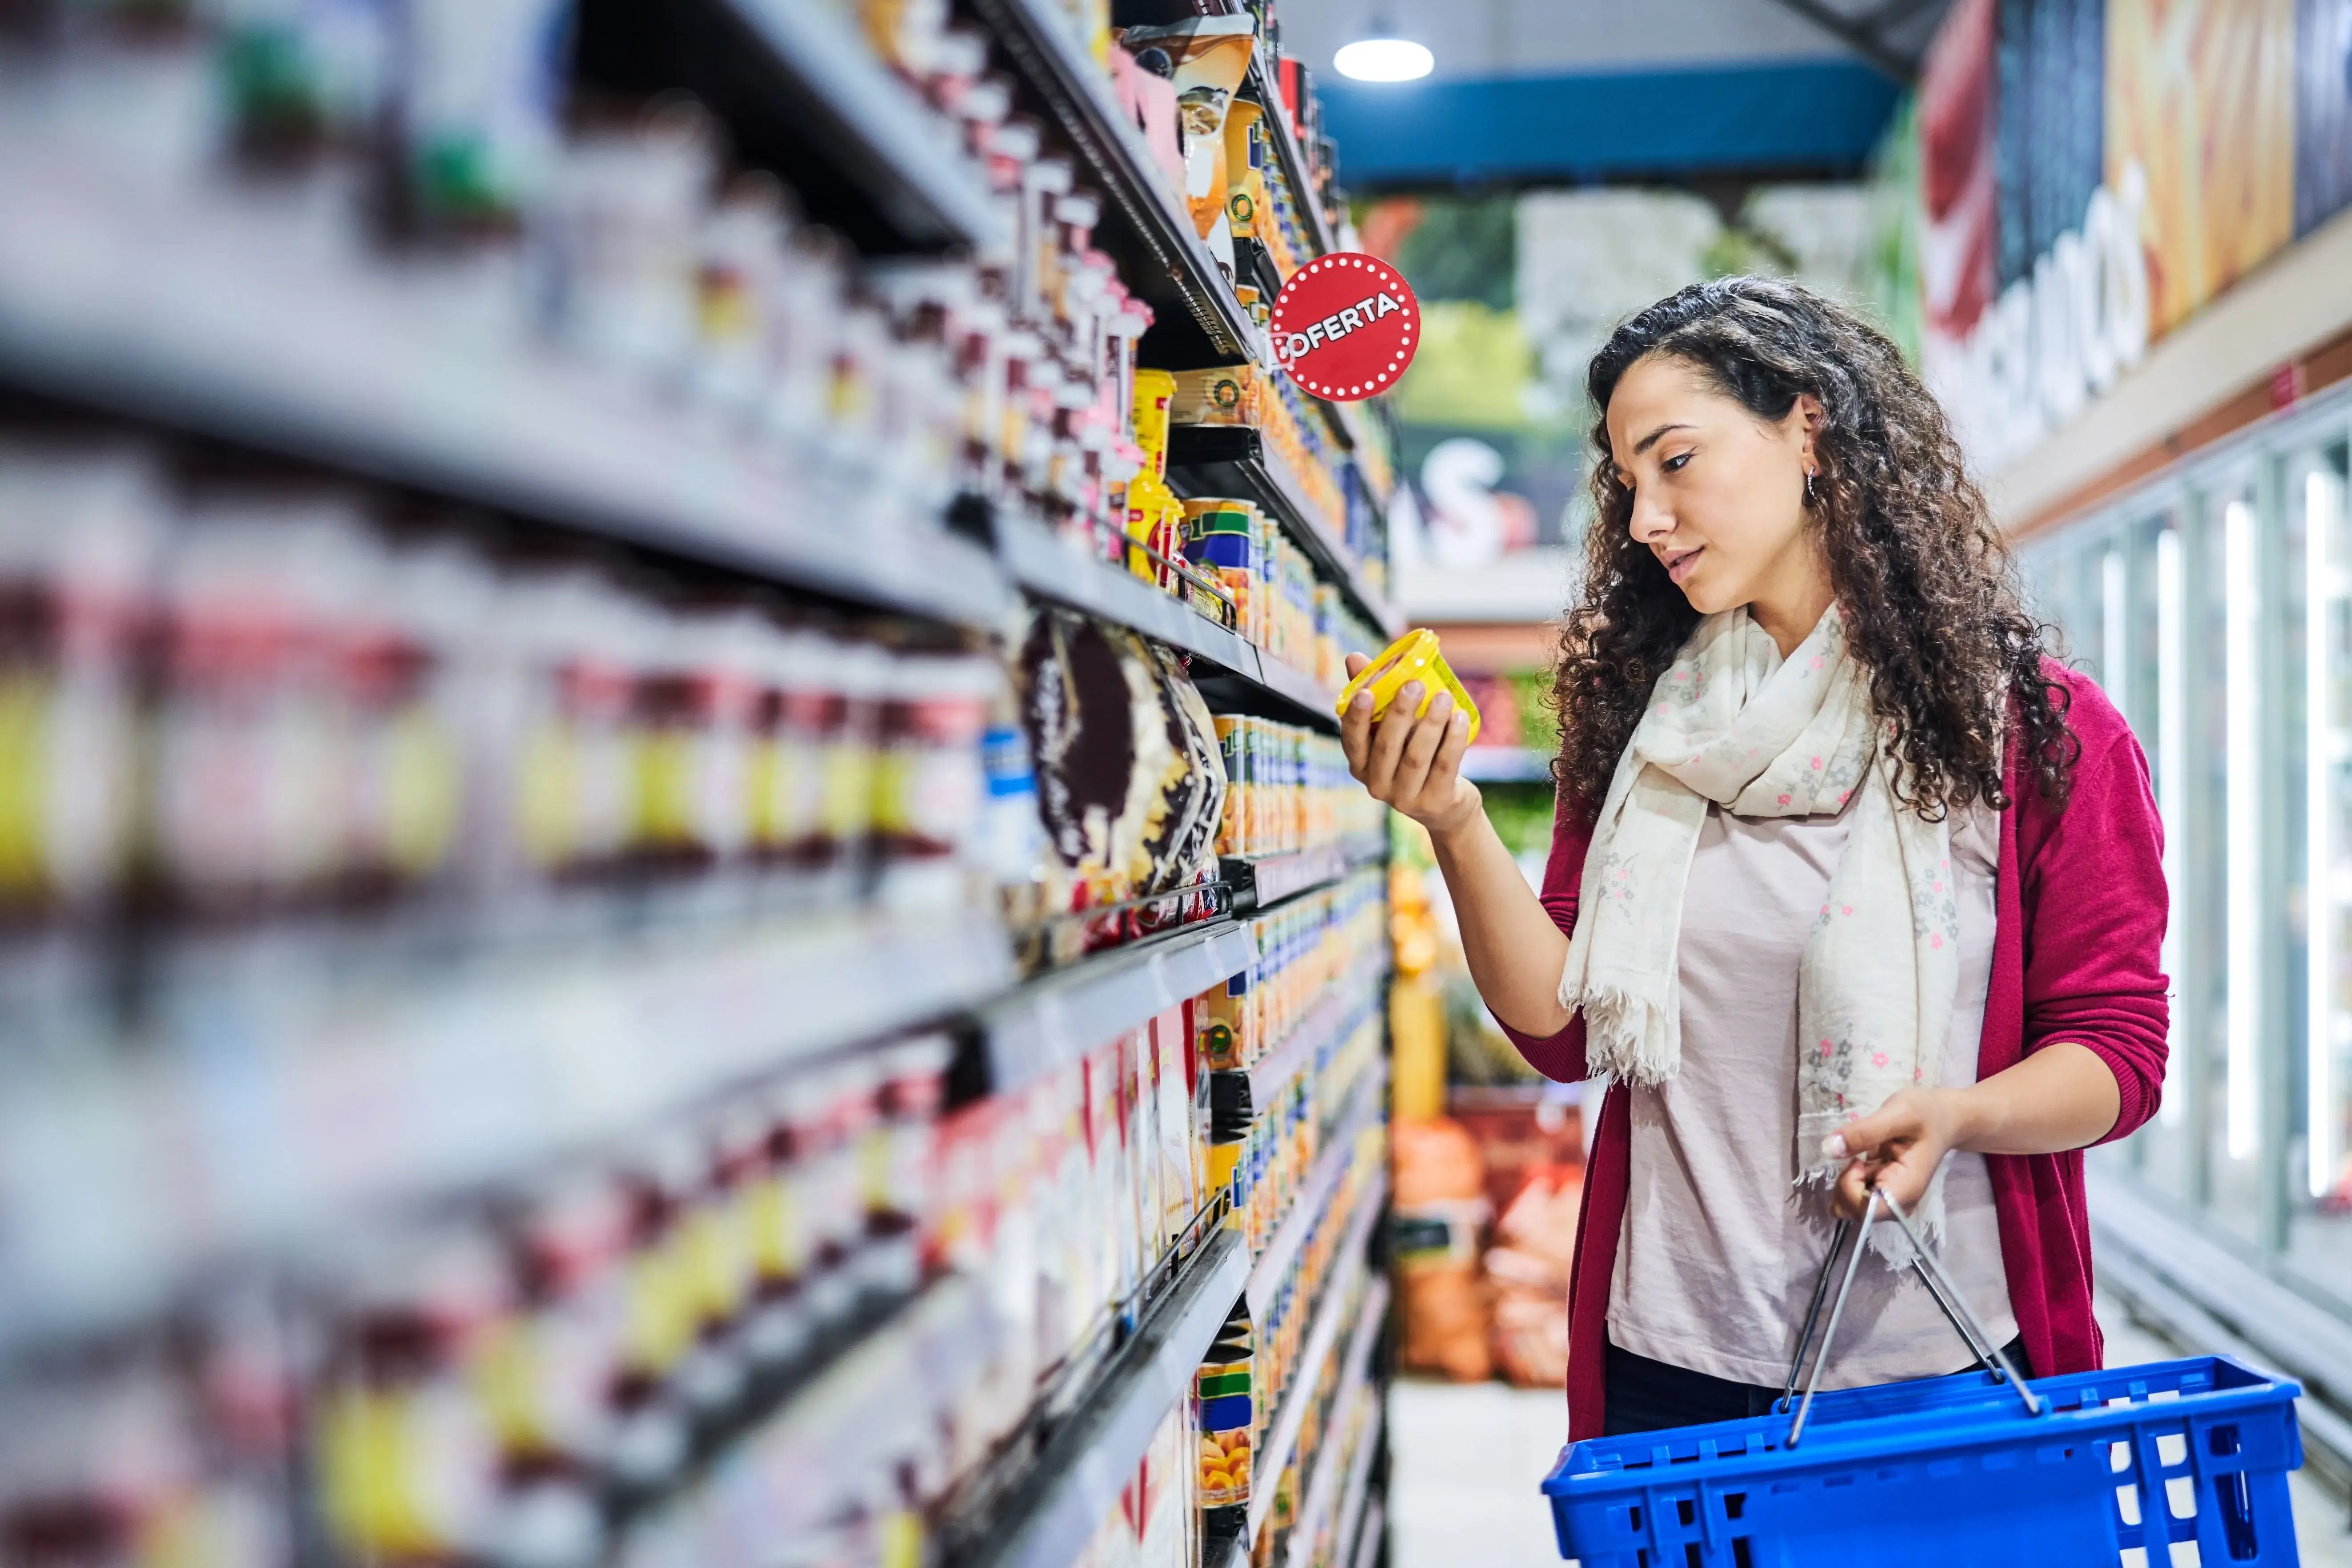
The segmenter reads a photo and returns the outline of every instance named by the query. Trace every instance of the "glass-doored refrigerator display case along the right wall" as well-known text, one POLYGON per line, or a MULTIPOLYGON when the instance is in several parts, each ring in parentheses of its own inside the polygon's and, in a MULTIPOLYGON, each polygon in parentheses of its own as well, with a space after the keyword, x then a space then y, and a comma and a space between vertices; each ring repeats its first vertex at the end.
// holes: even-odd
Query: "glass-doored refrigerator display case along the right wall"
MULTIPOLYGON (((2352 395, 2020 548, 2164 818, 2164 1107, 2100 1180, 2352 1321, 2352 395)), ((2096 1218, 2093 1201, 2093 1218, 2096 1218)))

